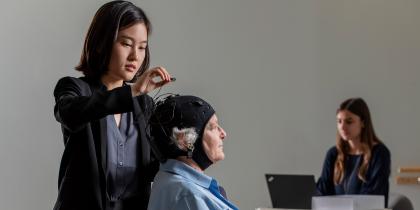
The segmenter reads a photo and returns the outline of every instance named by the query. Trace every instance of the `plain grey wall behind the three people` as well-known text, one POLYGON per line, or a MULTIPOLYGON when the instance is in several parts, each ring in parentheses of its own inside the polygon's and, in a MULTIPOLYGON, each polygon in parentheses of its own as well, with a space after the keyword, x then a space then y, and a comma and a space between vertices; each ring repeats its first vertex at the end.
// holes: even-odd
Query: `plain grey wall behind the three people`
MULTIPOLYGON (((76 65, 105 1, 7 1, 0 7, 0 209, 51 209, 63 151, 52 91, 76 65)), ((334 144, 335 109, 369 104, 392 152, 391 191, 420 208, 420 1, 136 1, 154 25, 152 64, 177 81, 162 92, 199 95, 228 132, 216 177, 241 209, 271 206, 264 173, 319 175, 334 144), (415 201, 417 200, 417 201, 415 201)))

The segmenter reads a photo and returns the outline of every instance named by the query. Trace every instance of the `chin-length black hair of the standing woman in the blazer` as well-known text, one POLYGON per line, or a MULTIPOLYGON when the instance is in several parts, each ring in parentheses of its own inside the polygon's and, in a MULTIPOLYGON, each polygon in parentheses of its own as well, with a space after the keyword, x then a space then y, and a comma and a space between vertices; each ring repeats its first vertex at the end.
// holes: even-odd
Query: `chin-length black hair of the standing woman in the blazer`
MULTIPOLYGON (((83 52, 76 70, 85 76, 99 78, 108 71, 111 51, 118 31, 135 23, 146 25, 147 35, 151 32, 150 21, 142 9, 127 1, 111 1, 98 9, 86 34, 83 52)), ((136 80, 149 68, 149 45, 136 80)))

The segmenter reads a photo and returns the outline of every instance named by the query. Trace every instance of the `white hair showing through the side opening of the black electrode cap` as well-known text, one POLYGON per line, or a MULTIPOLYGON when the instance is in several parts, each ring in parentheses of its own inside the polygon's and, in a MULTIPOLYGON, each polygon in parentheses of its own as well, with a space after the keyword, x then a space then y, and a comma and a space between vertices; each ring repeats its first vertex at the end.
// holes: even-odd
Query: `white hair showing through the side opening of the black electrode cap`
POLYGON ((172 128, 172 143, 174 143, 181 150, 186 150, 187 145, 194 144, 195 141, 197 141, 197 138, 198 134, 194 128, 172 128))

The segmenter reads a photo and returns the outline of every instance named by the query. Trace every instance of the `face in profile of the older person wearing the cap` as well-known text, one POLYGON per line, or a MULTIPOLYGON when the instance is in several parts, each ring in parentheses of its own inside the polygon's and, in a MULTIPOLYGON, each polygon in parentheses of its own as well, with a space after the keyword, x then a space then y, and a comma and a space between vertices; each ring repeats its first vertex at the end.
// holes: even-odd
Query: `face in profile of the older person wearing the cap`
POLYGON ((226 132, 220 127, 217 116, 214 114, 207 122, 203 133, 204 152, 213 163, 225 158, 225 153, 223 152, 223 140, 225 137, 226 132))

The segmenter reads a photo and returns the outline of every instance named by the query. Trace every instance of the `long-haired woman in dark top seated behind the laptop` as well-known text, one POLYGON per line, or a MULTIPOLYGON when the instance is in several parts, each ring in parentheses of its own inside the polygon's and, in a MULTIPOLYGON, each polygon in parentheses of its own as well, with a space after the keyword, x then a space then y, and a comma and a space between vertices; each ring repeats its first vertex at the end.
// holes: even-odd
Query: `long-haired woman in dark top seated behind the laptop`
POLYGON ((390 164, 390 152, 375 134, 366 102, 345 100, 337 110, 336 145, 327 152, 318 193, 383 195, 386 206, 390 164))

